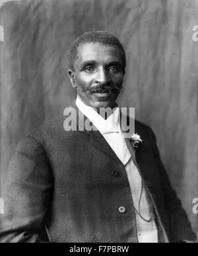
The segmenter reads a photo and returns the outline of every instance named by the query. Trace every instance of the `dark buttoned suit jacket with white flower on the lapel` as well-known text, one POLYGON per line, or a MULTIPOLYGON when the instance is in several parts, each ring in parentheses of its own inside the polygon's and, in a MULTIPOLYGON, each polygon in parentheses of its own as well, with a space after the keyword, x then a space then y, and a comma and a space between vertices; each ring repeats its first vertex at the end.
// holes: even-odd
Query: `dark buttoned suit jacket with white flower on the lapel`
MULTIPOLYGON (((64 119, 55 117, 18 143, 3 196, 0 241, 137 242, 125 167, 99 131, 65 131, 64 119)), ((127 145, 151 196, 159 241, 195 239, 154 133, 139 121, 135 132, 143 139, 136 159, 127 145)))

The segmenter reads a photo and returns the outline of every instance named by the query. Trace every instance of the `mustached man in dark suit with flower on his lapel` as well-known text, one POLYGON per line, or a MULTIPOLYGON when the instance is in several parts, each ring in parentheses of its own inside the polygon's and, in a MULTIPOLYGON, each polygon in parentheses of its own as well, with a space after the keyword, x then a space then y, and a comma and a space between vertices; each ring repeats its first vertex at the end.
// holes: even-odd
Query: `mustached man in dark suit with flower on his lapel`
POLYGON ((125 52, 116 36, 79 36, 68 72, 77 129, 61 114, 20 141, 9 164, 0 241, 195 240, 152 130, 135 121, 135 137, 124 137, 116 99, 125 52), (112 113, 104 117, 107 108, 112 113))

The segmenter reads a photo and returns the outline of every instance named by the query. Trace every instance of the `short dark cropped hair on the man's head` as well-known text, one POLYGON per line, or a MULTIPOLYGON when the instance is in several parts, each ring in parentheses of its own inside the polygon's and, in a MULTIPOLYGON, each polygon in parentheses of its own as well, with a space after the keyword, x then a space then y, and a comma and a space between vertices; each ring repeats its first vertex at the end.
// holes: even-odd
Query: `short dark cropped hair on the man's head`
POLYGON ((121 51, 121 58, 123 62, 123 73, 125 73, 126 66, 126 56, 125 50, 119 41, 119 39, 108 31, 89 31, 81 34, 81 36, 77 37, 71 44, 69 48, 69 52, 67 54, 69 69, 74 70, 75 60, 78 58, 78 48, 82 44, 90 43, 90 42, 100 42, 102 44, 108 44, 112 46, 117 46, 121 51))

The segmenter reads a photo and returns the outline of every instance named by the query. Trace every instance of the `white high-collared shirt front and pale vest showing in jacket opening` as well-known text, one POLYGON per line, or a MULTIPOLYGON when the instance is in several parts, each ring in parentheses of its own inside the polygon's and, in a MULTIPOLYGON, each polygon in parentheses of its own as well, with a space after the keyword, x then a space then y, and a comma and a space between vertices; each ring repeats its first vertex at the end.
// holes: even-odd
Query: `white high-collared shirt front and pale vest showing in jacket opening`
POLYGON ((135 208, 137 237, 139 243, 157 243, 158 230, 156 227, 152 202, 149 194, 146 192, 143 186, 139 170, 137 169, 137 166, 135 166, 131 153, 129 152, 129 149, 125 143, 125 138, 123 137, 119 123, 119 107, 116 107, 112 115, 110 115, 107 119, 104 119, 97 113, 95 109, 85 105, 78 96, 76 104, 81 112, 88 117, 98 131, 100 131, 104 139, 106 139, 112 150, 116 153, 118 159, 121 160, 125 166, 127 178, 131 188, 133 206, 135 208), (141 203, 139 207, 140 198, 141 203), (149 222, 143 220, 143 218, 137 214, 139 211, 145 220, 151 220, 149 222))

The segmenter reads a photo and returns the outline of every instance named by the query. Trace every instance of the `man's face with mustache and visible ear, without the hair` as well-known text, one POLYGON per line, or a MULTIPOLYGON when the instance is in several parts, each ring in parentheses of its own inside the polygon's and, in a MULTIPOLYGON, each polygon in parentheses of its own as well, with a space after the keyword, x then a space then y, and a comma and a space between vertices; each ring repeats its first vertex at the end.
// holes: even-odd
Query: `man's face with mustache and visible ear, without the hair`
POLYGON ((114 107, 123 82, 123 62, 117 46, 90 42, 78 49, 75 70, 68 70, 77 95, 90 107, 114 107))

